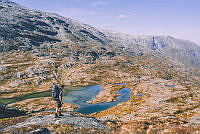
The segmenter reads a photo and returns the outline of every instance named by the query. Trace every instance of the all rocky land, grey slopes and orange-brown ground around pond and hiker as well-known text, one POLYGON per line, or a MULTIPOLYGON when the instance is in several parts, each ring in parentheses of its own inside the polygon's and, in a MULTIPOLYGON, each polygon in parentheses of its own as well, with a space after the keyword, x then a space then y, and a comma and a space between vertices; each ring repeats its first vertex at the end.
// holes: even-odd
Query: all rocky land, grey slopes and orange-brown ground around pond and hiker
POLYGON ((0 104, 0 133, 34 133, 36 128, 47 133, 200 132, 196 44, 171 36, 98 30, 8 0, 0 0, 0 20, 0 102, 8 104, 0 104), (125 87, 130 99, 87 116, 65 103, 68 112, 57 120, 48 111, 54 108, 49 97, 18 101, 48 91, 53 81, 101 85, 90 103, 114 101, 125 87))

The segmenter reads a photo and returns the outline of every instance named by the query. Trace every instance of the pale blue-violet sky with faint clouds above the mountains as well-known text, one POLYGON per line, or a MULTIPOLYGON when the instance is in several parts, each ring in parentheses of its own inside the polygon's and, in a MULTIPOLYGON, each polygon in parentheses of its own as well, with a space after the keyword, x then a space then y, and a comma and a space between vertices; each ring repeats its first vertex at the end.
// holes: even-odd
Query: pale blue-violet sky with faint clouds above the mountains
POLYGON ((200 0, 12 0, 97 28, 170 35, 200 45, 200 0))

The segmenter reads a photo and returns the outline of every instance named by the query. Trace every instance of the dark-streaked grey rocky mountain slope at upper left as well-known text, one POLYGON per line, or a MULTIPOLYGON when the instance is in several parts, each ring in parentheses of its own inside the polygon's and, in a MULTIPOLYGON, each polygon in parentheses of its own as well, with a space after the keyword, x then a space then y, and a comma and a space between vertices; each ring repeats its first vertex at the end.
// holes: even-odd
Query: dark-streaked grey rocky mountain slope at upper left
POLYGON ((93 42, 106 44, 103 33, 95 28, 57 14, 24 8, 0 1, 0 51, 17 50, 43 43, 93 42))

